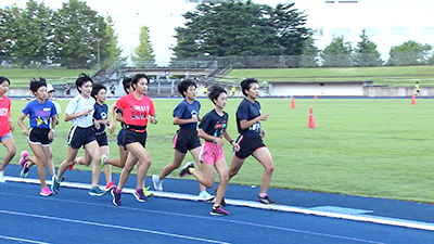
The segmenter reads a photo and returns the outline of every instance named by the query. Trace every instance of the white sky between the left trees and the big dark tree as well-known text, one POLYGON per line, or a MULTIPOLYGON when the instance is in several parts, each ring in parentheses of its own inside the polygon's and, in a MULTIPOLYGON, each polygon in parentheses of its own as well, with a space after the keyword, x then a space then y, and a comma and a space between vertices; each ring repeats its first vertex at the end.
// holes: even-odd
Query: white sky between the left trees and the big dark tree
MULTIPOLYGON (((51 9, 62 8, 67 0, 37 0, 44 2, 51 9)), ((25 8, 27 0, 0 0, 0 7, 16 3, 25 8)), ((187 11, 194 11, 196 4, 186 3, 186 0, 86 0, 87 4, 99 12, 103 17, 108 15, 115 23, 118 35, 118 44, 123 49, 123 56, 130 55, 139 44, 139 29, 145 25, 150 29, 150 39, 154 49, 155 61, 158 65, 168 64, 176 46, 175 28, 182 26, 181 16, 187 11)), ((288 0, 253 0, 255 3, 276 7, 288 0)))

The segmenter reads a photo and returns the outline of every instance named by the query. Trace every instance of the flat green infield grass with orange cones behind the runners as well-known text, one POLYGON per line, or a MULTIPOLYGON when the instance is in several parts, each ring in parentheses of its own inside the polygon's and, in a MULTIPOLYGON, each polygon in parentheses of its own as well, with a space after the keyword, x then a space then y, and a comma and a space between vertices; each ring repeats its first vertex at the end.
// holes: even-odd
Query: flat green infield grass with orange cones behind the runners
MULTIPOLYGON (((146 146, 153 158, 149 175, 158 174, 173 159, 171 139, 177 127, 173 125, 171 111, 179 101, 154 100, 159 123, 149 126, 146 146)), ((434 203, 434 100, 418 99, 417 105, 410 105, 409 99, 296 99, 294 110, 288 99, 259 101, 263 112, 271 114, 263 123, 265 143, 276 165, 271 187, 434 203), (316 129, 307 128, 310 106, 316 129)), ((59 102, 64 110, 67 101, 59 102)), ((208 100, 200 102, 202 116, 213 108, 208 100)), ((230 99, 226 110, 232 137, 237 136, 234 112, 239 102, 240 99, 230 99)), ((14 123, 26 103, 13 101, 14 123)), ((52 145, 56 165, 66 155, 71 126, 61 121, 56 128, 52 145)), ((15 126, 13 136, 17 145, 13 164, 17 164, 20 152, 29 147, 20 127, 15 126)), ((118 157, 115 139, 110 137, 110 149, 112 156, 118 157)), ((228 144, 225 151, 230 164, 228 144)), ((4 154, 4 147, 0 146, 0 153, 4 154)), ((191 159, 188 156, 184 162, 191 159)), ((259 185, 261 174, 261 166, 248 158, 231 183, 259 185)))

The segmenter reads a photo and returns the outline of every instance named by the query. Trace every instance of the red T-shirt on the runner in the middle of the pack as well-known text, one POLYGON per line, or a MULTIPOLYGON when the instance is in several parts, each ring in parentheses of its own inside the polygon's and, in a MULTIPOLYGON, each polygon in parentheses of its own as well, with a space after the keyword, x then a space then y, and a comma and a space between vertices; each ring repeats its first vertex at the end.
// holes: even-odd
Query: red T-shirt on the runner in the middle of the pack
POLYGON ((123 110, 125 124, 131 126, 146 126, 148 117, 155 114, 154 102, 146 95, 141 100, 136 99, 135 93, 124 95, 116 106, 123 110))

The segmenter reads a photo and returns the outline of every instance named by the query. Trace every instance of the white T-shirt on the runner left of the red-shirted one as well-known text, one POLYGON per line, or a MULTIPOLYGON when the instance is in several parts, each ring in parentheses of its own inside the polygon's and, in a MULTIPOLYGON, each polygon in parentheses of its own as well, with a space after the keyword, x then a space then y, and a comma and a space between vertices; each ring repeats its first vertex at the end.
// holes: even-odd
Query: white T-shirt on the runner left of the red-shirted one
POLYGON ((94 103, 95 100, 92 97, 85 99, 80 94, 78 94, 69 101, 68 105, 66 106, 65 114, 72 115, 87 110, 91 110, 91 112, 88 115, 79 116, 72 120, 74 126, 82 128, 90 127, 93 125, 92 118, 94 113, 93 108, 94 103))

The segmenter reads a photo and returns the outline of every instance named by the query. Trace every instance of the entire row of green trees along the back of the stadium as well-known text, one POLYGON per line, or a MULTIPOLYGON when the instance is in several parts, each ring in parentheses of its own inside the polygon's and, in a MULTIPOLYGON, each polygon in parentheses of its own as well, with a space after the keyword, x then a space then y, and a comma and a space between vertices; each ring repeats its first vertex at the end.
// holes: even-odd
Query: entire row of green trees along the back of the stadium
MULTIPOLYGON (((275 57, 275 66, 282 67, 434 63, 433 48, 411 40, 392 47, 390 59, 383 61, 365 30, 355 47, 344 37, 335 37, 324 50, 319 50, 315 47, 312 31, 306 27, 308 16, 297 10, 295 3, 276 8, 250 0, 203 3, 183 17, 184 25, 176 28, 177 44, 171 48, 174 62, 218 60, 230 63, 234 57, 270 56, 257 59, 256 65, 275 62, 271 61, 275 57)), ((110 16, 104 20, 81 0, 69 0, 59 10, 36 0, 28 0, 24 9, 16 5, 0 9, 0 38, 2 64, 92 68, 127 60, 122 56, 113 20, 110 16)), ((140 43, 131 61, 136 66, 156 66, 145 23, 138 38, 140 43)), ((246 59, 244 63, 248 63, 246 59)), ((240 66, 248 65, 244 63, 240 66)))

